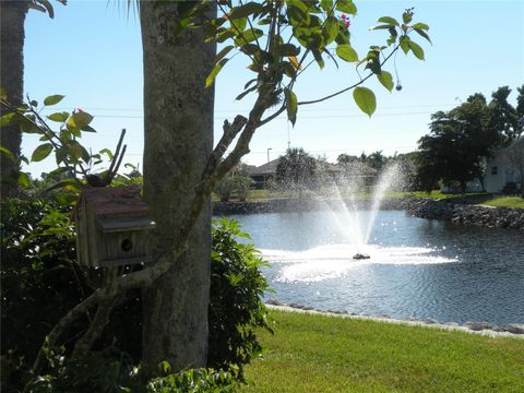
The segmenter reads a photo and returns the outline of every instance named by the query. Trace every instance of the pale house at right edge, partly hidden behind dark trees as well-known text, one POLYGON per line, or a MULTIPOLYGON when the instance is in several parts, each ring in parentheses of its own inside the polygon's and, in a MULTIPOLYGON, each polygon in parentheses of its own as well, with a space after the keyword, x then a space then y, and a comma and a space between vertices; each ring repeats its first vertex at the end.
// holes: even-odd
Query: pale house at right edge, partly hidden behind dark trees
POLYGON ((524 174, 524 136, 513 144, 495 152, 493 156, 486 160, 486 176, 484 184, 487 192, 502 192, 509 182, 522 188, 524 174))

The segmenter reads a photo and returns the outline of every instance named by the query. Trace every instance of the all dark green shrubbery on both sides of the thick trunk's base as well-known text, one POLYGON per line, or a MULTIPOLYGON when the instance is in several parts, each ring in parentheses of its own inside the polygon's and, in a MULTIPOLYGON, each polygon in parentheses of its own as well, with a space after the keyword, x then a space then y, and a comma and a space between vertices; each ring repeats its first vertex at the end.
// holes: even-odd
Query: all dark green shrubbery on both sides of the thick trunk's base
MULTIPOLYGON (((7 199, 2 201, 1 213, 1 349, 7 361, 2 364, 5 379, 2 383, 20 386, 28 378, 28 364, 35 358, 49 327, 91 294, 93 286, 86 283, 94 285, 93 281, 99 281, 102 272, 84 271, 74 263, 70 209, 59 209, 53 200, 7 199)), ((234 222, 221 221, 213 229, 210 365, 231 371, 214 374, 212 370, 195 370, 194 376, 191 371, 180 377, 159 378, 152 386, 178 386, 192 378, 206 384, 211 381, 225 383, 241 373, 242 365, 260 354, 253 327, 269 327, 261 300, 267 289, 260 271, 264 262, 252 245, 240 243, 237 237, 246 238, 247 235, 234 222)), ((129 299, 111 315, 96 346, 103 350, 73 361, 69 358, 71 340, 87 322, 80 320, 68 333, 64 348, 47 349, 47 377, 40 376, 35 391, 46 391, 48 386, 68 391, 66 386, 71 380, 79 386, 82 383, 86 383, 85 386, 112 385, 124 378, 130 365, 140 360, 141 314, 140 291, 130 293, 129 299)))

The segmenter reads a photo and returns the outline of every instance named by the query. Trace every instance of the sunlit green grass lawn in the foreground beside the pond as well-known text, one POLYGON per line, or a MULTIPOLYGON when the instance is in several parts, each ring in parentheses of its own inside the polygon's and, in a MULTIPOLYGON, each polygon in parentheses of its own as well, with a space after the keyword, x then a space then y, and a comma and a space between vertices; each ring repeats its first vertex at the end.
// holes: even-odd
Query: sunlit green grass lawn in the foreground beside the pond
POLYGON ((524 392, 524 340, 271 311, 242 392, 524 392))

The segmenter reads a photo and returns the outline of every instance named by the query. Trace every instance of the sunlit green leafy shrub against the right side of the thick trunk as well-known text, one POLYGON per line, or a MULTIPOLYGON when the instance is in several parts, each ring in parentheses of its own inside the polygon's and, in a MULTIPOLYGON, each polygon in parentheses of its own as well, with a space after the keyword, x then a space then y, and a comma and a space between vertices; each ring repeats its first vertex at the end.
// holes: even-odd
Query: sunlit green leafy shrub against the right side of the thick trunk
POLYGON ((241 378, 242 367, 262 347, 254 327, 271 332, 262 302, 267 281, 260 269, 266 263, 237 222, 226 218, 213 226, 210 298, 209 366, 231 369, 241 378))

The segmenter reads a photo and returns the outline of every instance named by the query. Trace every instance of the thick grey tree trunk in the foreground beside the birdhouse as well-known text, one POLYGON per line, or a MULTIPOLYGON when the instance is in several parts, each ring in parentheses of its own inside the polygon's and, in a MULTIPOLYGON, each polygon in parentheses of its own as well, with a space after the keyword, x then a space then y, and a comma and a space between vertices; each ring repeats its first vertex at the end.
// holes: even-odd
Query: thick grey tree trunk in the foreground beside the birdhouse
MULTIPOLYGON (((202 32, 175 35, 177 2, 141 1, 144 51, 144 198, 157 227, 156 251, 172 247, 213 147, 214 90, 205 88, 216 47, 202 32)), ((211 200, 189 251, 144 290, 143 358, 174 370, 207 357, 211 200)))

